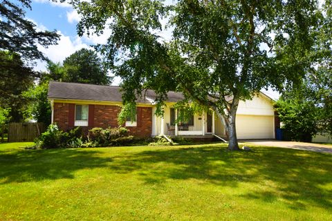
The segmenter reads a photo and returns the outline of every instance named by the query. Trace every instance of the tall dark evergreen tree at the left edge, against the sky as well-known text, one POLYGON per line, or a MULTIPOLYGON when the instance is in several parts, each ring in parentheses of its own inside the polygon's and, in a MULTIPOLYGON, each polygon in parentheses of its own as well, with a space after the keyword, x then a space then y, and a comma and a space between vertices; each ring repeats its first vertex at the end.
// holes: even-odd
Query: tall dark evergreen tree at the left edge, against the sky
POLYGON ((30 65, 35 59, 46 59, 38 46, 47 47, 59 39, 55 31, 38 30, 35 23, 25 18, 25 10, 31 10, 30 3, 30 0, 0 3, 0 108, 10 108, 13 122, 23 119, 22 108, 27 99, 21 93, 39 77, 30 65))

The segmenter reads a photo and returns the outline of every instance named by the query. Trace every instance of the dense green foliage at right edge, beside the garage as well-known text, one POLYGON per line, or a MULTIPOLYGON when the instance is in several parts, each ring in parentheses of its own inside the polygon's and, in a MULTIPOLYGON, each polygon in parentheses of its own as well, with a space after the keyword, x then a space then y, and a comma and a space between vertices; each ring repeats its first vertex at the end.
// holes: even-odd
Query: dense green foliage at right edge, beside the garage
POLYGON ((320 64, 296 88, 284 91, 276 104, 286 137, 310 141, 316 133, 332 135, 331 70, 320 64))

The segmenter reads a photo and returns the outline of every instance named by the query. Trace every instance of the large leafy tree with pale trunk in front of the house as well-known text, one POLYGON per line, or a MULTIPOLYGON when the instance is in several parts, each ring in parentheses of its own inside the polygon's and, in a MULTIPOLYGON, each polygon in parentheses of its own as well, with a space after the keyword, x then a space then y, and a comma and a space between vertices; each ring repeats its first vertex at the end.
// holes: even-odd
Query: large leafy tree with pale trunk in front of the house
POLYGON ((162 0, 72 1, 82 15, 79 35, 110 28, 107 44, 96 48, 122 77, 124 104, 135 94, 156 91, 157 114, 166 93, 216 111, 239 149, 235 116, 239 101, 261 88, 297 84, 312 64, 324 13, 317 1, 162 0), (159 35, 163 23, 172 39, 159 35))

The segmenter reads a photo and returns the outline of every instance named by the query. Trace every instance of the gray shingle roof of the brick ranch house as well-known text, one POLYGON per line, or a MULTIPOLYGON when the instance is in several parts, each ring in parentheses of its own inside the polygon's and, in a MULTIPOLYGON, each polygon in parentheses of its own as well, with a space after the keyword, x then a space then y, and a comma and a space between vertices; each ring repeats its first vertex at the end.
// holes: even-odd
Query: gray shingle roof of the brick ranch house
MULTIPOLYGON (((144 93, 143 93, 144 94, 144 93)), ((48 85, 49 99, 84 99, 93 101, 122 102, 122 92, 119 86, 100 86, 94 84, 77 84, 50 81, 48 85)), ((138 103, 151 104, 156 98, 153 90, 147 90, 145 97, 138 98, 138 103)), ((181 93, 170 91, 167 102, 178 102, 184 99, 181 93)))

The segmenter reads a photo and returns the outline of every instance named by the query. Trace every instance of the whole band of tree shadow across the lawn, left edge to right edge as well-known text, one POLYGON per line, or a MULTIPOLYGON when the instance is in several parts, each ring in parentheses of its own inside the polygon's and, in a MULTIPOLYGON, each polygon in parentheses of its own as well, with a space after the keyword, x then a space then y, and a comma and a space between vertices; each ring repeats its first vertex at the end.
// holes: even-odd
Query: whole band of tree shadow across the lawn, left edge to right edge
MULTIPOLYGON (((225 146, 151 148, 112 153, 96 150, 8 151, 0 154, 0 184, 46 179, 73 179, 80 169, 105 168, 104 173, 131 174, 151 188, 169 180, 243 188, 241 198, 291 209, 308 204, 332 208, 332 155, 284 148, 254 147, 252 152, 228 152, 225 146), (248 188, 248 186, 255 188, 248 188)), ((139 184, 139 183, 138 183, 139 184)), ((238 197, 238 196, 237 196, 238 197)))

